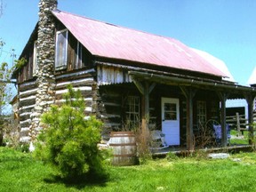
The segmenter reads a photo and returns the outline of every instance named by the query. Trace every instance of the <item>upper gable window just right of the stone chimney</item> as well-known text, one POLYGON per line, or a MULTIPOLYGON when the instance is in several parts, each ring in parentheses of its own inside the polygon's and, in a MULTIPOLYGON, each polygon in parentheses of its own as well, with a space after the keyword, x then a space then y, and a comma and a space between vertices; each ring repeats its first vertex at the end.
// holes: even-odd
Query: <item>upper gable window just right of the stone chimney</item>
POLYGON ((68 63, 68 30, 58 31, 56 34, 55 69, 67 68, 68 63))

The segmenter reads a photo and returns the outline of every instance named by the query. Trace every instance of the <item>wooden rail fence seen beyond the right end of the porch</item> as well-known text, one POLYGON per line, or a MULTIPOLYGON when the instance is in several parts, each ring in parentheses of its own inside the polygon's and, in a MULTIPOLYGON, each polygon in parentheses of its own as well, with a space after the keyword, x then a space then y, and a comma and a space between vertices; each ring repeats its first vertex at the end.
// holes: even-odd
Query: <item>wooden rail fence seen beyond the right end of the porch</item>
MULTIPOLYGON (((253 122, 256 122, 256 113, 253 113, 253 122)), ((238 133, 248 131, 248 119, 245 115, 239 115, 236 113, 236 116, 226 116, 226 123, 229 124, 230 128, 236 130, 238 133)))

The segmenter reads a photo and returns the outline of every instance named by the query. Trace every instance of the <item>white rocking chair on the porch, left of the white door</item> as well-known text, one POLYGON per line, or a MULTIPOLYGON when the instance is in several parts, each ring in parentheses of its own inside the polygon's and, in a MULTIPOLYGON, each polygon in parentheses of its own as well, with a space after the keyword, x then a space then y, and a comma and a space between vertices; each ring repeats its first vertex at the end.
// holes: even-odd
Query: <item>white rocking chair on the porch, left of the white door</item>
POLYGON ((154 130, 150 132, 151 136, 151 149, 168 148, 169 146, 165 142, 165 135, 160 130, 154 130))

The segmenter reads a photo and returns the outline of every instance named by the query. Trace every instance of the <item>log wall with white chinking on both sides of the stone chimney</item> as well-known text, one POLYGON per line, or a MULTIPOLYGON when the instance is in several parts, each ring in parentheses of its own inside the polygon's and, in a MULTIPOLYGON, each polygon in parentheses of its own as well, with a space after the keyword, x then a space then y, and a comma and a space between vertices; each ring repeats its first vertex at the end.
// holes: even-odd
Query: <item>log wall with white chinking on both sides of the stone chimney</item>
MULTIPOLYGON (((96 106, 93 95, 96 95, 97 92, 94 78, 95 70, 93 68, 56 76, 55 100, 49 104, 62 103, 64 101, 62 99, 63 93, 68 92, 67 86, 72 84, 75 90, 79 89, 82 92, 86 102, 85 116, 90 116, 96 110, 93 108, 96 106)), ((31 117, 33 117, 33 111, 36 107, 36 81, 20 84, 19 91, 20 140, 27 141, 29 140, 31 117)))

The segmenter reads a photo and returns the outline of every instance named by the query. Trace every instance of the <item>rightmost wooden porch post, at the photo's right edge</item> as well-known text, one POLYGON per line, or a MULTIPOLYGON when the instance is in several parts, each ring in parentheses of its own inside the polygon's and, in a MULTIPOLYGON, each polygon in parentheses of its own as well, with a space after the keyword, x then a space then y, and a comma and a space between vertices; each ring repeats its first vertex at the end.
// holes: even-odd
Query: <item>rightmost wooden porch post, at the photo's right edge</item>
POLYGON ((248 124, 249 124, 249 144, 253 144, 253 100, 254 97, 250 95, 246 95, 245 99, 248 104, 248 124))

